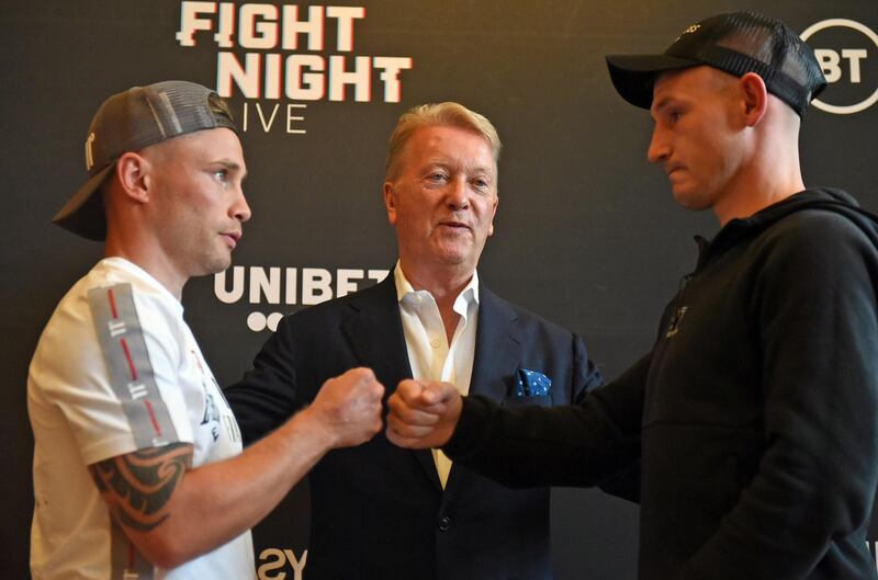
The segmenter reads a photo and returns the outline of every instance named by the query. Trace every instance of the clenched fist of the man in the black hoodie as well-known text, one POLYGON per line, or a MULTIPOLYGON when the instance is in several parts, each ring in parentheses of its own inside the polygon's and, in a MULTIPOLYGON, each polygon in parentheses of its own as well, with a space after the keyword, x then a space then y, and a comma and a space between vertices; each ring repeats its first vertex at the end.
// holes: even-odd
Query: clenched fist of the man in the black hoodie
POLYGON ((463 408, 454 385, 414 379, 401 382, 387 405, 387 439, 416 450, 448 443, 463 408))

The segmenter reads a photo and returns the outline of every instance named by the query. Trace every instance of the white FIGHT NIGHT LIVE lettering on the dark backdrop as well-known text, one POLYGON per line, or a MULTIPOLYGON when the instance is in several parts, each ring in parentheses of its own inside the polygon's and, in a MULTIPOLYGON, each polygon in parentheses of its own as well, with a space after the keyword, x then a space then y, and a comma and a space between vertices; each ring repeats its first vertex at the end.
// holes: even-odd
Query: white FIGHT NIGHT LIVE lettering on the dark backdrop
POLYGON ((241 130, 302 135, 307 102, 402 100, 401 76, 413 59, 354 55, 364 21, 364 7, 184 1, 176 38, 183 47, 206 41, 219 48, 216 91, 252 101, 244 103, 241 130))

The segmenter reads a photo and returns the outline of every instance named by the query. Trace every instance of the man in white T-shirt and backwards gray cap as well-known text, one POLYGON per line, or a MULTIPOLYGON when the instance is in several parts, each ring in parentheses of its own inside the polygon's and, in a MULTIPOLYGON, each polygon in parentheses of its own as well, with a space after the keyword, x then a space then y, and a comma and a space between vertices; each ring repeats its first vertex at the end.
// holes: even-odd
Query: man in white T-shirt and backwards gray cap
POLYGON ((254 578, 249 528, 329 450, 381 428, 367 368, 241 453, 240 432, 180 296, 228 268, 250 217, 226 103, 185 81, 108 99, 90 179, 55 216, 105 240, 61 299, 27 377, 35 580, 254 578))

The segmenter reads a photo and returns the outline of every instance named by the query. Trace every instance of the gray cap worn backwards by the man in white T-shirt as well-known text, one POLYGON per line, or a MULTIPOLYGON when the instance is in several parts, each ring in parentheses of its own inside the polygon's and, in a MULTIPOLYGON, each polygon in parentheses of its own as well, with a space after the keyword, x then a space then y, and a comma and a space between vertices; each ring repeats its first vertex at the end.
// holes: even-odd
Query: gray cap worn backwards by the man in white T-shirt
POLYGON ((83 238, 103 240, 106 218, 94 192, 123 153, 217 127, 238 130, 226 102, 194 82, 169 80, 114 94, 91 120, 86 139, 89 180, 52 220, 83 238))

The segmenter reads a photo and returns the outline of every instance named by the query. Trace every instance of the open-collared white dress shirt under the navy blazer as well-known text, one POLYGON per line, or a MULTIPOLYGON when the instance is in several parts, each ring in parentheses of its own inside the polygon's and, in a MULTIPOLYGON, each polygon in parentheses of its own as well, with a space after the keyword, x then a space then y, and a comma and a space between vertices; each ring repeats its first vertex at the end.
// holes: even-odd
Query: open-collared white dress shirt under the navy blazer
MULTIPOLYGON (((470 391, 475 355, 475 328, 479 321, 479 274, 473 277, 454 299, 453 309, 460 315, 458 328, 448 343, 446 327, 439 314, 436 298, 428 291, 416 291, 406 280, 399 262, 393 271, 396 283, 396 299, 403 318, 408 363, 416 379, 451 383, 461 395, 470 391)), ((432 450, 436 469, 442 488, 448 481, 451 459, 439 450, 432 450)))

